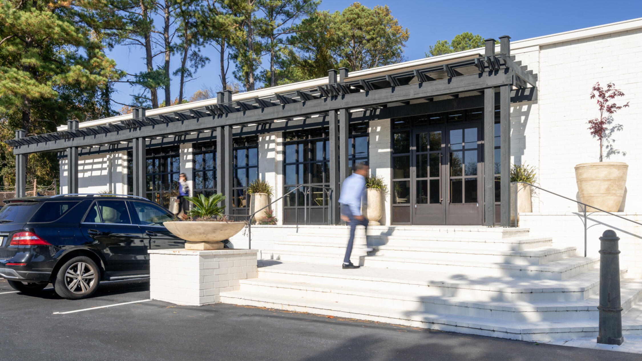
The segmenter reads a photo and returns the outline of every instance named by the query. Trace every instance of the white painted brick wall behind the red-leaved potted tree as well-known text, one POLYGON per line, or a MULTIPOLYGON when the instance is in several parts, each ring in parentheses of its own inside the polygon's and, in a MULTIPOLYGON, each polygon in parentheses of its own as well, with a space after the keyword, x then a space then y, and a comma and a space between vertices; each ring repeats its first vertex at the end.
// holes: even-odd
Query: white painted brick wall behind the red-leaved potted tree
MULTIPOLYGON (((636 66, 642 64, 639 60, 641 50, 642 30, 637 29, 542 46, 537 65, 534 65, 534 56, 530 53, 514 53, 517 60, 523 60, 529 69, 536 66, 535 72, 539 76, 539 109, 531 111, 532 119, 526 127, 521 160, 537 166, 539 183, 543 188, 571 198, 577 196, 575 165, 596 162, 599 156, 598 140, 591 137, 586 124, 587 119, 598 116, 595 101, 589 99, 589 93, 597 81, 602 85, 614 82, 626 94, 626 97, 618 99, 618 103, 630 102, 630 108, 620 110, 614 117, 615 124, 623 125, 623 131, 616 132, 613 139, 616 147, 626 155, 621 153, 607 160, 629 164, 625 207, 620 210, 639 210, 642 190, 634 184, 642 176, 642 148, 639 145, 642 78, 639 66, 636 66), (534 136, 537 128, 534 112, 539 113, 539 146, 534 136), (539 150, 539 161, 538 152, 529 151, 532 146, 539 150)), ((518 156, 519 150, 512 153, 518 156)), ((577 210, 571 201, 546 193, 534 200, 535 210, 541 212, 577 210)))

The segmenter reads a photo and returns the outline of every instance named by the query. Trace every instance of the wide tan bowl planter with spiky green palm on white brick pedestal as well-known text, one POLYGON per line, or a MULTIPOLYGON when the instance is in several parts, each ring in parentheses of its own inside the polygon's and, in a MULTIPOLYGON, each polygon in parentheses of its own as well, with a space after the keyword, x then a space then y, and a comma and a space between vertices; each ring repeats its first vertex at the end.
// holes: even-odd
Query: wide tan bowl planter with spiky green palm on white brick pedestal
POLYGON ((205 197, 186 197, 192 203, 189 216, 183 220, 163 222, 165 228, 185 242, 185 249, 221 249, 221 241, 229 239, 245 227, 245 222, 230 222, 223 215, 225 206, 219 206, 225 196, 213 194, 205 197))

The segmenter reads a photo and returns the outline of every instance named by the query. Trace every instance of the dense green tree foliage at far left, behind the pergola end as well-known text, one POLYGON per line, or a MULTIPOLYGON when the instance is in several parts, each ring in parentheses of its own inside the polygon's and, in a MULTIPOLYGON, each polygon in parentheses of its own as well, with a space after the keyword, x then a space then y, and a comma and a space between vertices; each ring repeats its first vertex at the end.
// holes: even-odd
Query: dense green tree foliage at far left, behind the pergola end
MULTIPOLYGON (((123 73, 104 53, 103 1, 0 0, 0 137, 15 130, 49 133, 68 119, 100 119, 110 110, 110 82, 123 73)), ((0 175, 15 181, 12 149, 0 144, 0 175)), ((28 157, 28 181, 53 183, 53 152, 28 157)))

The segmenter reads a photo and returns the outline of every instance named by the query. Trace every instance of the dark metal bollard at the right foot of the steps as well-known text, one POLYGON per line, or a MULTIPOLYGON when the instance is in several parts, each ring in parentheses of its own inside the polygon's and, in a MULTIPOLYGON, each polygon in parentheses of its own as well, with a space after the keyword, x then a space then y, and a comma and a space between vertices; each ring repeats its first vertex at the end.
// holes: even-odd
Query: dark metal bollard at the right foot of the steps
POLYGON ((621 345, 622 307, 620 301, 620 237, 605 230, 600 237, 600 333, 598 344, 621 345))

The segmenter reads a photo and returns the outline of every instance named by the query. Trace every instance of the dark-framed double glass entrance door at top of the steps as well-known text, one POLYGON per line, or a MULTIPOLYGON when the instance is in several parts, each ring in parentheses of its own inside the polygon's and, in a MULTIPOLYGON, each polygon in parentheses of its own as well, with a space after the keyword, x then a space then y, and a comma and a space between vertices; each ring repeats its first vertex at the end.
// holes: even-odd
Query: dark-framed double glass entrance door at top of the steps
POLYGON ((412 224, 482 224, 479 125, 413 130, 412 224))

